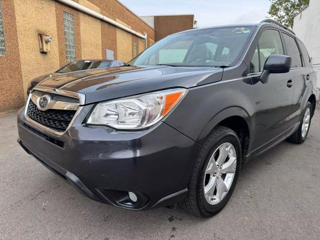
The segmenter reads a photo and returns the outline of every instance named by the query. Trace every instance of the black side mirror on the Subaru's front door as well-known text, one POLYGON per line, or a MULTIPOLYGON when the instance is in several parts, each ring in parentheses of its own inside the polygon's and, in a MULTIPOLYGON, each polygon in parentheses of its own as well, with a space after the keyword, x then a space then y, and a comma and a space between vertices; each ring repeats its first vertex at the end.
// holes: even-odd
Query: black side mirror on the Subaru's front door
POLYGON ((270 55, 263 66, 260 76, 262 83, 268 82, 270 73, 285 73, 291 69, 291 57, 286 55, 270 55))

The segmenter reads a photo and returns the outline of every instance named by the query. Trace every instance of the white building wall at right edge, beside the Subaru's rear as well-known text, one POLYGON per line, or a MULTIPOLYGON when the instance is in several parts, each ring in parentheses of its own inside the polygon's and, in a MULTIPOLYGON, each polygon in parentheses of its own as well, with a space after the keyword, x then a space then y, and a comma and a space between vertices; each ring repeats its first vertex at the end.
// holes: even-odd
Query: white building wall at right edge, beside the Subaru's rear
MULTIPOLYGON (((294 17, 293 31, 305 44, 317 71, 316 87, 320 88, 320 0, 310 0, 309 6, 294 17)), ((319 96, 317 89, 316 97, 319 96)))

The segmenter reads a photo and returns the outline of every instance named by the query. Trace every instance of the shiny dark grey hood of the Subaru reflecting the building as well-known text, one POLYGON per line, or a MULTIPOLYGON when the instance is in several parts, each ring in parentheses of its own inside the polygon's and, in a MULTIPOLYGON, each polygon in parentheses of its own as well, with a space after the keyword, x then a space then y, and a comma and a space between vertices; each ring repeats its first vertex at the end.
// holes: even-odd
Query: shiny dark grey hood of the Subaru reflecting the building
POLYGON ((221 80, 219 67, 121 66, 59 74, 37 86, 85 94, 85 104, 171 87, 194 87, 221 80))

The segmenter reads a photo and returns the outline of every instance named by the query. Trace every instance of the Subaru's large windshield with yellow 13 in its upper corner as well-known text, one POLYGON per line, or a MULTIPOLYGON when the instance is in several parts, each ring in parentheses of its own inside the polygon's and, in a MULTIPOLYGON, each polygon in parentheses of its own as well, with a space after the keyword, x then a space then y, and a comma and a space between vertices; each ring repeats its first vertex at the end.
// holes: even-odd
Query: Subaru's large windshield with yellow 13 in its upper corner
POLYGON ((130 65, 229 66, 243 51, 254 27, 215 27, 169 35, 154 43, 130 65))

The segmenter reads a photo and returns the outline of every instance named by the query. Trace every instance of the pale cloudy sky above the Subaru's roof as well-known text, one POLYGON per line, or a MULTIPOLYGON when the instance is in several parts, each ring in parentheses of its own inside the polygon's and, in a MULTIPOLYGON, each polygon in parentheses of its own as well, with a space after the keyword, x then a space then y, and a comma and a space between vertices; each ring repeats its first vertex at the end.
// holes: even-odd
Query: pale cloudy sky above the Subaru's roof
POLYGON ((198 27, 259 22, 269 0, 120 0, 139 16, 194 13, 198 27))

